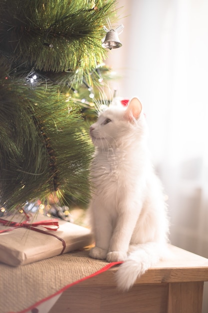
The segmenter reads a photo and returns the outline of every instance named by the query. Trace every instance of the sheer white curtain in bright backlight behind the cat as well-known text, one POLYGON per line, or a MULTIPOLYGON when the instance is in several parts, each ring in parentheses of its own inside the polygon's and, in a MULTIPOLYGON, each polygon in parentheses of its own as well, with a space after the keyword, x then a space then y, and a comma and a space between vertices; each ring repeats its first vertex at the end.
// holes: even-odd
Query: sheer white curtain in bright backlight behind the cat
POLYGON ((169 197, 172 243, 208 257, 208 0, 119 0, 121 6, 123 46, 107 63, 122 78, 110 87, 143 103, 169 197))

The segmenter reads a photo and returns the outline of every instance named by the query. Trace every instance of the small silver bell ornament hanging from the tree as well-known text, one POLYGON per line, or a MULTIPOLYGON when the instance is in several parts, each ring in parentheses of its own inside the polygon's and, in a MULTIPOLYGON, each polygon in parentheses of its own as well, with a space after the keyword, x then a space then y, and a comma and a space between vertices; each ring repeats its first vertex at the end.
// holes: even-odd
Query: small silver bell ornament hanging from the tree
POLYGON ((107 33, 102 43, 102 47, 108 48, 110 50, 120 48, 120 46, 122 46, 122 43, 119 40, 118 35, 122 32, 124 25, 121 24, 116 29, 108 29, 105 26, 103 26, 103 28, 107 33))

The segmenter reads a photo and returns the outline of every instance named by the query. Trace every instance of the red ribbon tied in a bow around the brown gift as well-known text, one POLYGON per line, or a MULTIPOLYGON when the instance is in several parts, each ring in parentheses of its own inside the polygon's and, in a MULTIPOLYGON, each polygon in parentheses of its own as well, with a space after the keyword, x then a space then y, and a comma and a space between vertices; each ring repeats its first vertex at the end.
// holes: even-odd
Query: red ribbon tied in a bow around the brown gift
POLYGON ((4 226, 12 226, 13 227, 13 228, 9 228, 9 229, 0 230, 0 233, 6 232, 6 231, 11 231, 11 230, 14 230, 14 229, 19 228, 19 227, 26 227, 26 228, 29 228, 31 230, 35 230, 35 231, 38 231, 38 232, 41 232, 41 233, 45 233, 47 235, 56 237, 57 239, 62 241, 63 248, 62 248, 62 251, 60 253, 60 254, 62 254, 63 251, 65 250, 65 247, 66 247, 66 242, 64 241, 64 239, 58 237, 54 233, 47 232, 47 231, 45 231, 43 229, 35 228, 37 226, 42 226, 43 228, 45 228, 47 230, 56 231, 59 228, 58 219, 41 220, 41 221, 35 221, 35 222, 32 222, 32 223, 29 223, 28 222, 29 219, 30 219, 29 214, 26 214, 25 212, 24 212, 24 214, 25 214, 26 220, 24 220, 22 222, 10 221, 10 220, 6 220, 6 219, 3 219, 3 218, 0 218, 0 223, 1 224, 3 224, 4 226), (53 225, 55 227, 48 227, 48 225, 53 225))

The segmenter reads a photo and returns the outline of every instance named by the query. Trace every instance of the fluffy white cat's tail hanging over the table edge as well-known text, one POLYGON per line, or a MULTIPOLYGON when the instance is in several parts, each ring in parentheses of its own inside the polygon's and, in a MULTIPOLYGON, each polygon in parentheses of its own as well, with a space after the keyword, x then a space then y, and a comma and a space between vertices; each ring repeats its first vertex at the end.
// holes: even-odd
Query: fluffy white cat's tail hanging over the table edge
POLYGON ((166 258, 167 245, 158 242, 147 242, 130 247, 128 258, 116 272, 117 286, 127 291, 135 280, 154 266, 160 259, 166 258))

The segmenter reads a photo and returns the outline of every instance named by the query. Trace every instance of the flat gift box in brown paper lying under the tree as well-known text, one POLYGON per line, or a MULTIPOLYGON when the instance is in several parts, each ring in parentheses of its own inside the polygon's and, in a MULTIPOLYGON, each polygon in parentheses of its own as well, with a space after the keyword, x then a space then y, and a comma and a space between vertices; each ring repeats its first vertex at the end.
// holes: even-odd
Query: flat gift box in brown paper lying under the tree
MULTIPOLYGON (((25 222, 24 214, 22 213, 9 215, 3 217, 3 219, 20 223, 22 221, 25 222)), ((58 223, 58 227, 55 225, 38 225, 37 227, 35 225, 35 227, 30 227, 30 224, 25 228, 21 225, 19 227, 11 227, 11 224, 3 225, 0 223, 0 230, 7 230, 0 232, 0 262, 12 266, 28 264, 80 249, 93 243, 91 231, 86 227, 40 213, 31 214, 30 219, 26 223, 37 223, 44 220, 52 221, 52 224, 58 223), (48 230, 43 228, 44 226, 54 229, 48 230), (37 230, 34 230, 34 228, 37 230), (55 228, 58 229, 55 230, 55 228)))

